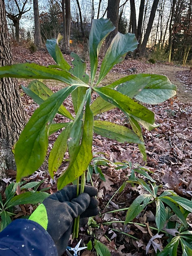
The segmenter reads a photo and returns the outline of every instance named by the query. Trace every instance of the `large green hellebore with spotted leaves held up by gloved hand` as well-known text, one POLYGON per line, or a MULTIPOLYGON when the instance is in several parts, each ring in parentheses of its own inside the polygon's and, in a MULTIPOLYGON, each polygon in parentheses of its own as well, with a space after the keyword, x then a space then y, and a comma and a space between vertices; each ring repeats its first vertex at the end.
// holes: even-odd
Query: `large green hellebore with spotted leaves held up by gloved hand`
MULTIPOLYGON (((98 55, 102 43, 114 29, 108 19, 92 21, 89 36, 90 77, 86 73, 85 62, 77 54, 71 53, 74 58, 73 66, 66 62, 58 47, 61 36, 58 36, 58 40, 51 39, 46 42, 47 50, 56 62, 55 65, 40 66, 24 63, 0 67, 0 77, 53 79, 68 85, 56 93, 38 80, 33 80, 28 87, 22 87, 24 92, 40 106, 34 111, 14 147, 17 181, 23 176, 32 174, 41 166, 47 154, 48 137, 59 129, 62 129, 62 132, 49 154, 51 177, 61 165, 67 149, 69 165, 58 178, 58 189, 85 173, 92 160, 93 132, 121 143, 138 144, 143 159, 146 160, 140 125, 148 130, 157 126, 154 124, 154 113, 141 103, 163 102, 176 94, 176 87, 167 77, 150 74, 129 75, 109 85, 100 86, 100 82, 111 68, 123 61, 126 53, 134 51, 138 45, 134 34, 118 32, 105 53, 96 79, 98 55), (93 102, 92 93, 98 94, 93 102), (75 117, 62 105, 69 95, 72 96, 75 117), (126 126, 98 119, 98 114, 116 107, 124 112, 132 130, 126 126), (68 122, 53 123, 56 113, 67 117, 68 122)), ((84 182, 85 176, 83 177, 84 182)))

